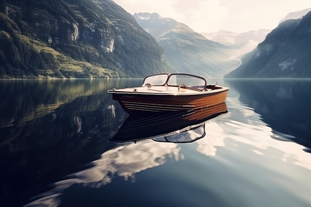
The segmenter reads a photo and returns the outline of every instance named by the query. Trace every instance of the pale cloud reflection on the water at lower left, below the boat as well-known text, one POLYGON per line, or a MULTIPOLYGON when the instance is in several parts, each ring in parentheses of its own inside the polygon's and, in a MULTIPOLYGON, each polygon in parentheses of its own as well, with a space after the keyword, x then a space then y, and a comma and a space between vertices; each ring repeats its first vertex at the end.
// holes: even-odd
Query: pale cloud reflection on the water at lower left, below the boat
POLYGON ((184 158, 178 144, 153 140, 120 144, 104 152, 100 159, 93 161, 91 163, 93 167, 69 175, 68 179, 55 183, 55 189, 37 196, 38 200, 28 204, 27 207, 57 206, 60 204, 58 197, 74 184, 99 188, 111 183, 115 176, 134 181, 136 173, 162 165, 168 157, 175 161, 184 158))

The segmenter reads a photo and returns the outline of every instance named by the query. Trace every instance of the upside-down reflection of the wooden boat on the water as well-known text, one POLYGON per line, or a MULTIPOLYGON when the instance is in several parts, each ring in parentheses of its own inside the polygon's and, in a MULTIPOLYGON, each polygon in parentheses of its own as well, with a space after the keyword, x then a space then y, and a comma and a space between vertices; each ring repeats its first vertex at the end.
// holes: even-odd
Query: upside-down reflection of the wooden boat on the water
POLYGON ((226 102, 185 112, 164 115, 130 115, 118 133, 109 141, 128 142, 153 139, 162 142, 186 143, 205 136, 205 123, 227 113, 226 102))

